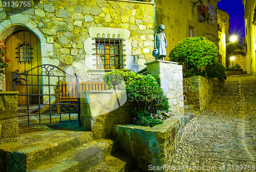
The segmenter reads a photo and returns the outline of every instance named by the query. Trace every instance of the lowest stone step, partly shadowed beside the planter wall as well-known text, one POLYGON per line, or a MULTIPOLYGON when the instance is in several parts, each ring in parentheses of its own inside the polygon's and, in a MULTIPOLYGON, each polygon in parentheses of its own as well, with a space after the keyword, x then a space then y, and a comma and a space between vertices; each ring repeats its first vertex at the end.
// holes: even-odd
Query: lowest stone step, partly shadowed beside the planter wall
POLYGON ((127 172, 131 171, 132 156, 126 152, 118 151, 105 157, 100 163, 91 166, 87 172, 127 172))

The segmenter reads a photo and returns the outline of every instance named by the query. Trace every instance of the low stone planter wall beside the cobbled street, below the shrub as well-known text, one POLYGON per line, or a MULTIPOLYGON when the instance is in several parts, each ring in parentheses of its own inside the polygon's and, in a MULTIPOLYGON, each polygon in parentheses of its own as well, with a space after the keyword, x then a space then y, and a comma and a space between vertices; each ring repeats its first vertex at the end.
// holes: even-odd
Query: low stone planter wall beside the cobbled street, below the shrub
POLYGON ((117 137, 121 148, 133 156, 133 163, 138 168, 142 171, 162 171, 148 167, 172 163, 183 130, 183 116, 175 116, 153 127, 117 125, 117 137))

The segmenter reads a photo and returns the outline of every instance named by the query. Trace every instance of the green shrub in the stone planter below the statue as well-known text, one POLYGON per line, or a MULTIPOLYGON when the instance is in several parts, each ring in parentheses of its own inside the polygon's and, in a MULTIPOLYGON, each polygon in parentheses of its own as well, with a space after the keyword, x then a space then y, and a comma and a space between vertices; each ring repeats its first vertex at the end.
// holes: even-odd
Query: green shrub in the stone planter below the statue
POLYGON ((152 75, 112 71, 106 73, 103 80, 109 85, 109 89, 114 86, 116 90, 126 89, 127 101, 135 104, 132 120, 135 125, 154 126, 162 123, 158 114, 168 112, 169 103, 157 79, 152 75))

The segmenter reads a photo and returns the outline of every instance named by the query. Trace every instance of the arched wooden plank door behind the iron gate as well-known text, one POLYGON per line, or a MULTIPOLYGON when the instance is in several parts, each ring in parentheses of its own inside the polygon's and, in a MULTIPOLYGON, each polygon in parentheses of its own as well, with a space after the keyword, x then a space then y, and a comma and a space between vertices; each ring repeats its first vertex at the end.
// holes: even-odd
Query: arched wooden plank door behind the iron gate
MULTIPOLYGON (((23 71, 28 71, 34 67, 37 67, 38 65, 41 65, 41 49, 40 49, 40 40, 38 37, 33 34, 32 32, 29 31, 18 31, 10 36, 8 36, 5 40, 5 45, 7 47, 7 56, 12 60, 10 63, 10 66, 6 68, 6 91, 13 91, 12 90, 12 72, 15 72, 16 70, 19 70, 19 72, 23 71), (29 46, 32 49, 32 62, 18 62, 18 59, 16 58, 16 47, 18 44, 29 44, 29 46)), ((41 74, 41 71, 39 70, 33 70, 33 75, 41 74)), ((25 81, 21 80, 22 83, 25 83, 25 81)), ((39 79, 38 83, 38 78, 37 76, 29 76, 28 78, 28 83, 29 84, 35 84, 35 85, 30 85, 28 88, 28 93, 25 89, 25 87, 22 86, 16 86, 16 91, 19 91, 19 95, 23 94, 29 94, 29 95, 34 95, 32 98, 29 99, 29 102, 27 103, 27 97, 26 96, 18 96, 18 105, 23 105, 23 104, 38 104, 39 101, 40 103, 42 100, 39 100, 41 96, 38 96, 42 90, 40 89, 41 87, 38 87, 37 84, 41 84, 41 78, 39 79), (39 89, 38 89, 39 88, 39 89)))

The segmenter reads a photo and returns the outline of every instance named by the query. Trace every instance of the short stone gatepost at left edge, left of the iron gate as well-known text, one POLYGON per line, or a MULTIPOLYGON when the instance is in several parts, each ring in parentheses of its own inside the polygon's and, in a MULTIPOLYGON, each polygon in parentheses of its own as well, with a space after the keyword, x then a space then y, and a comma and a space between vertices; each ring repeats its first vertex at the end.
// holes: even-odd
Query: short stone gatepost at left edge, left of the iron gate
POLYGON ((17 140, 17 93, 18 92, 0 92, 0 143, 17 140))

